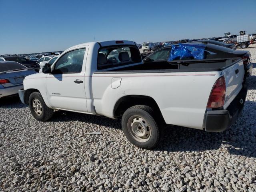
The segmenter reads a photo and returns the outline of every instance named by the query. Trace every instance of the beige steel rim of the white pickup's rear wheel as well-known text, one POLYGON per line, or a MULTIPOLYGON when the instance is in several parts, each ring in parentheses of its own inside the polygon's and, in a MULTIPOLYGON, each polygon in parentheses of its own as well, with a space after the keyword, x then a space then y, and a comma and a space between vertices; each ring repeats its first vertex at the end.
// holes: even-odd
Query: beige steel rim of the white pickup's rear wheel
POLYGON ((128 119, 128 130, 138 142, 147 142, 150 139, 151 128, 148 122, 140 116, 131 116, 128 119))

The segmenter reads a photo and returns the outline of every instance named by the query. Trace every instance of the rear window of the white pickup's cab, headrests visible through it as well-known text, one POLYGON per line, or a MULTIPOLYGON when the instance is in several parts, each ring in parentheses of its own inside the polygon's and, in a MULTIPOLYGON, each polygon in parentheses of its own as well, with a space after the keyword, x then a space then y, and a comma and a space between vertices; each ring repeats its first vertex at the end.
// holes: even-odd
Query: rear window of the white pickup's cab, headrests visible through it
POLYGON ((108 69, 141 62, 140 51, 135 45, 102 47, 98 52, 97 69, 108 69))

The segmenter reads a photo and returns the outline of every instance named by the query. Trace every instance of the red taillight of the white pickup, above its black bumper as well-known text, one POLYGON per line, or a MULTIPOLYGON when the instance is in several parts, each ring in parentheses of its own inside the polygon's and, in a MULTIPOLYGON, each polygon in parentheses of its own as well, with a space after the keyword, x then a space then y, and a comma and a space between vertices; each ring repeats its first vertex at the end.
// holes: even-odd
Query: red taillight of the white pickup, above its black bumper
POLYGON ((226 96, 226 82, 224 76, 218 78, 214 83, 212 92, 210 94, 207 108, 219 108, 224 105, 226 96))

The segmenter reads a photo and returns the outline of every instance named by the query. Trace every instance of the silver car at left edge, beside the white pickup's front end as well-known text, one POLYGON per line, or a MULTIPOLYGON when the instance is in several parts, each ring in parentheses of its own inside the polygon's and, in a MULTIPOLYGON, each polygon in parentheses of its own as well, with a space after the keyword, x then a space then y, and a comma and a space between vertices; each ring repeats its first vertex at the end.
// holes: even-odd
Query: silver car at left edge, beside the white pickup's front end
POLYGON ((35 73, 18 62, 0 61, 0 98, 17 95, 24 78, 35 73))

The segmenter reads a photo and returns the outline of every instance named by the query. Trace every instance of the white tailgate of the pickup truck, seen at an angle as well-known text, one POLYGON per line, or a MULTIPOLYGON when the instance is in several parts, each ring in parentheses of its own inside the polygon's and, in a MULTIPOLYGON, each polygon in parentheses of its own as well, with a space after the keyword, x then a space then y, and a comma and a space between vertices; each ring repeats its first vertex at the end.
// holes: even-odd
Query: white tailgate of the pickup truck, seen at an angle
POLYGON ((223 72, 226 81, 226 98, 224 102, 224 109, 226 109, 242 89, 244 81, 243 60, 238 60, 232 66, 224 69, 223 72))

